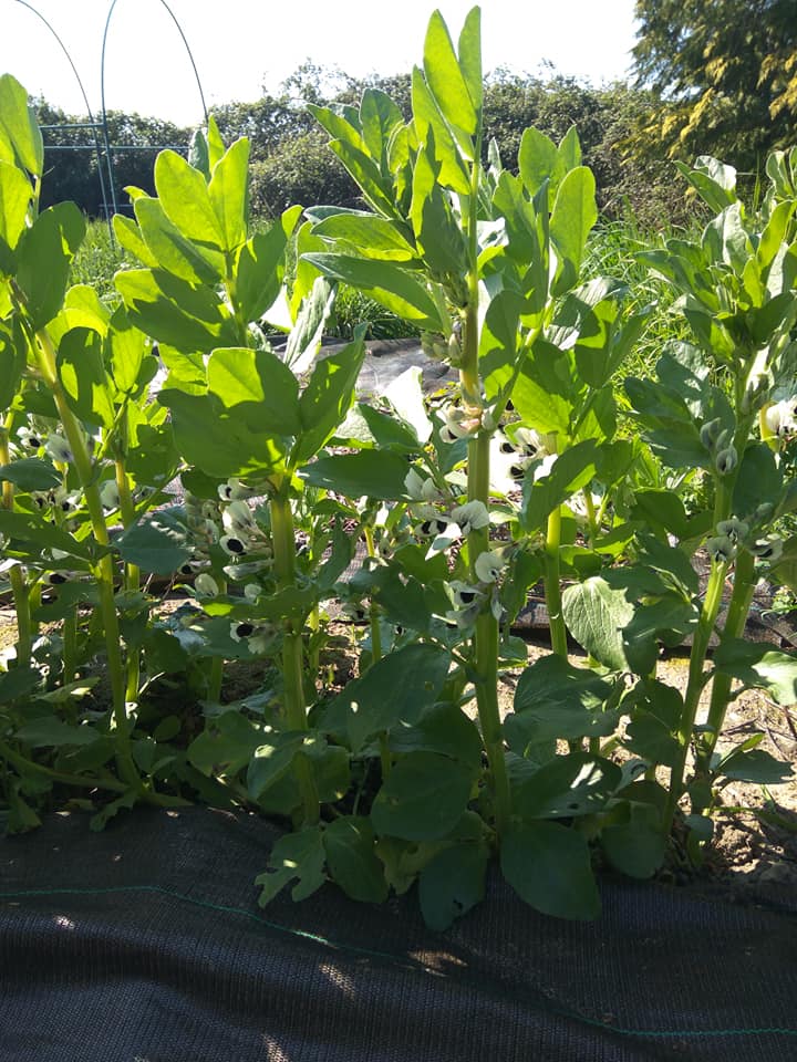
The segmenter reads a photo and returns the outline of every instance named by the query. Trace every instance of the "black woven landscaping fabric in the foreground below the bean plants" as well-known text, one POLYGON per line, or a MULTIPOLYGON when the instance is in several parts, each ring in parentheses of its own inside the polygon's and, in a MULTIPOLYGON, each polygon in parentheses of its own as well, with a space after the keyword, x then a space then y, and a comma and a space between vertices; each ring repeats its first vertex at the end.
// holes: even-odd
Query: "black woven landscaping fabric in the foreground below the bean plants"
POLYGON ((493 875, 438 934, 412 894, 260 909, 278 835, 188 809, 0 842, 0 1062, 797 1060, 797 899, 612 878, 568 923, 493 875))

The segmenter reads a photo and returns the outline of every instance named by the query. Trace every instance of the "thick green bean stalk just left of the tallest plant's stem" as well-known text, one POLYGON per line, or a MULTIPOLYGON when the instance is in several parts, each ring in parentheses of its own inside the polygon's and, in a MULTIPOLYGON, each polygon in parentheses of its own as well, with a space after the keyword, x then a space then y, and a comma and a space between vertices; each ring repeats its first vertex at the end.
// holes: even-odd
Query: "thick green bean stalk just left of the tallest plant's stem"
MULTIPOLYGON (((272 494, 269 510, 277 586, 278 590, 287 590, 293 586, 296 580, 296 537, 288 482, 283 482, 272 494)), ((284 718, 291 730, 309 729, 302 657, 302 633, 296 629, 296 621, 288 620, 282 638, 282 685, 284 718)), ((302 752, 297 753, 293 767, 301 793, 303 824, 313 825, 319 821, 320 809, 312 768, 302 752)))

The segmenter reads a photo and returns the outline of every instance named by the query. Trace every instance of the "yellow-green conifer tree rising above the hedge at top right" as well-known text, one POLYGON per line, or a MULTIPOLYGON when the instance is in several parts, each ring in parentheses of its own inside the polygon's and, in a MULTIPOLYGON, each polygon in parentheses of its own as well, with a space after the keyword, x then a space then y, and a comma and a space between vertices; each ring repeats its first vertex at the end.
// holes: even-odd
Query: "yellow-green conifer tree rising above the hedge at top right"
POLYGON ((635 14, 638 84, 658 100, 642 138, 748 170, 797 140, 795 0, 636 0, 635 14))

